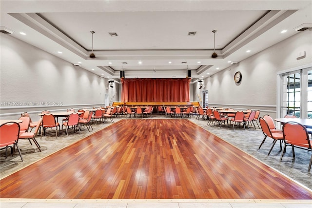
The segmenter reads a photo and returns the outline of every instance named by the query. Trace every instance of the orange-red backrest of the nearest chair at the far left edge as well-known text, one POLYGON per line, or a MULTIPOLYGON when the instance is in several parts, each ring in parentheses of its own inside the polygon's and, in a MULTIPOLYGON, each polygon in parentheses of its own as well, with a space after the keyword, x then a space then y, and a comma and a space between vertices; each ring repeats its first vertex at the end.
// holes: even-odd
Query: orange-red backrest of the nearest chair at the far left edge
POLYGON ((0 147, 15 144, 19 139, 20 125, 7 122, 0 126, 0 147))

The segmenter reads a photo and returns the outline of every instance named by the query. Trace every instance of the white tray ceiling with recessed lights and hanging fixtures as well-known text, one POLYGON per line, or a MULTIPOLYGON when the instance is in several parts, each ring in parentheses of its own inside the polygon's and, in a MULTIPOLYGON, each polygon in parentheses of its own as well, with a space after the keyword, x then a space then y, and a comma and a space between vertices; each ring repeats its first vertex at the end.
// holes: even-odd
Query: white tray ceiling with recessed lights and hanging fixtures
POLYGON ((185 78, 187 69, 192 78, 211 76, 312 22, 311 0, 1 0, 0 6, 0 25, 11 36, 115 79, 122 68, 126 78, 185 78))

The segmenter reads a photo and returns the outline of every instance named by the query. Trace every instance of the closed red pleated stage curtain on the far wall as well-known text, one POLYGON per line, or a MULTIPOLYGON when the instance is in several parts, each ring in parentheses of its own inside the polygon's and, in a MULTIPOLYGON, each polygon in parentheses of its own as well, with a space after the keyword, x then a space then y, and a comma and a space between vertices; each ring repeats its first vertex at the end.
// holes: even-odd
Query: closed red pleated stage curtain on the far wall
POLYGON ((121 79, 121 102, 189 102, 191 79, 121 79))

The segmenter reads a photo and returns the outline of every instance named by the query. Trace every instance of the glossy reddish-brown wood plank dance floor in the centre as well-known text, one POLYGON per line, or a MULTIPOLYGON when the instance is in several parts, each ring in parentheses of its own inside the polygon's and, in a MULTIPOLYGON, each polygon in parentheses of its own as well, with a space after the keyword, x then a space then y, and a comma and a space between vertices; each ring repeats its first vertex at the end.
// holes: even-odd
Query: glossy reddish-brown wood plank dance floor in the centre
POLYGON ((312 192, 188 120, 124 119, 0 180, 0 197, 312 199, 312 192))

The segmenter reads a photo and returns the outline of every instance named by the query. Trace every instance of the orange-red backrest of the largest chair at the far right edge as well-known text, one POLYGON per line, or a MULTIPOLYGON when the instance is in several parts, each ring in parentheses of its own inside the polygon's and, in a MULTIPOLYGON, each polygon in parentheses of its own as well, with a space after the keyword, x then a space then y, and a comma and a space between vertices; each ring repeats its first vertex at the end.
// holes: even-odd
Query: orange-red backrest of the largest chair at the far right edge
POLYGON ((297 122, 287 122, 283 125, 283 134, 286 143, 311 149, 309 134, 303 125, 297 122))

